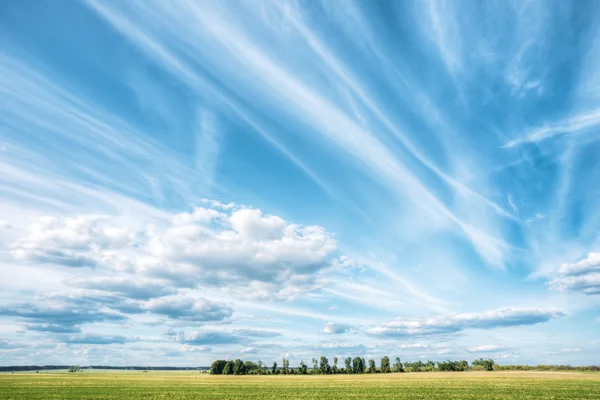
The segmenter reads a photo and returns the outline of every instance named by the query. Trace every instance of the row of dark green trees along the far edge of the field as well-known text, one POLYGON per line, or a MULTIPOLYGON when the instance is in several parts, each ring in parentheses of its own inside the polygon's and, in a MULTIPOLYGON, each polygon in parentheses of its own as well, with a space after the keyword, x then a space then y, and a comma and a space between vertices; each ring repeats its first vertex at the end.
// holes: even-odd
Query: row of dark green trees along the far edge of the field
POLYGON ((336 375, 336 374, 376 374, 376 373, 392 373, 392 372, 425 372, 425 371, 469 371, 469 370, 484 370, 492 371, 496 364, 494 360, 479 358, 471 363, 465 360, 461 361, 427 361, 421 360, 415 362, 400 361, 400 357, 396 357, 394 363, 391 363, 388 356, 381 358, 379 366, 375 360, 365 360, 363 357, 346 357, 343 360, 343 366, 340 365, 338 357, 333 357, 333 363, 329 363, 329 359, 321 356, 319 359, 313 358, 312 366, 309 368, 304 361, 296 368, 290 367, 290 361, 283 358, 281 367, 277 362, 273 362, 271 366, 262 361, 242 361, 237 360, 216 360, 210 366, 210 373, 213 375, 336 375))

